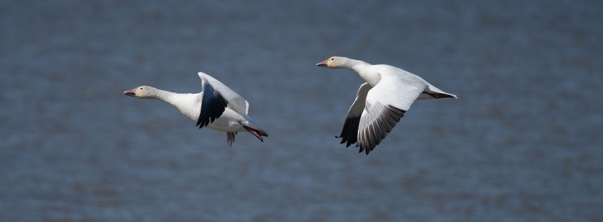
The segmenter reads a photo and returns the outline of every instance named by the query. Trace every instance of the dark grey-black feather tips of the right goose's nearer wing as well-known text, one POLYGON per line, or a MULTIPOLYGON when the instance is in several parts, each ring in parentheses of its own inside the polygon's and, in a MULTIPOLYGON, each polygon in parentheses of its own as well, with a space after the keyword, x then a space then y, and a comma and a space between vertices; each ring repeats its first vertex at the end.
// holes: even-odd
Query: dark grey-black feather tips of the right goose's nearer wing
POLYGON ((358 152, 361 153, 364 150, 368 155, 391 132, 396 123, 400 122, 405 113, 405 110, 392 105, 383 107, 373 123, 358 131, 357 138, 359 141, 356 144, 356 147, 360 147, 358 152))

